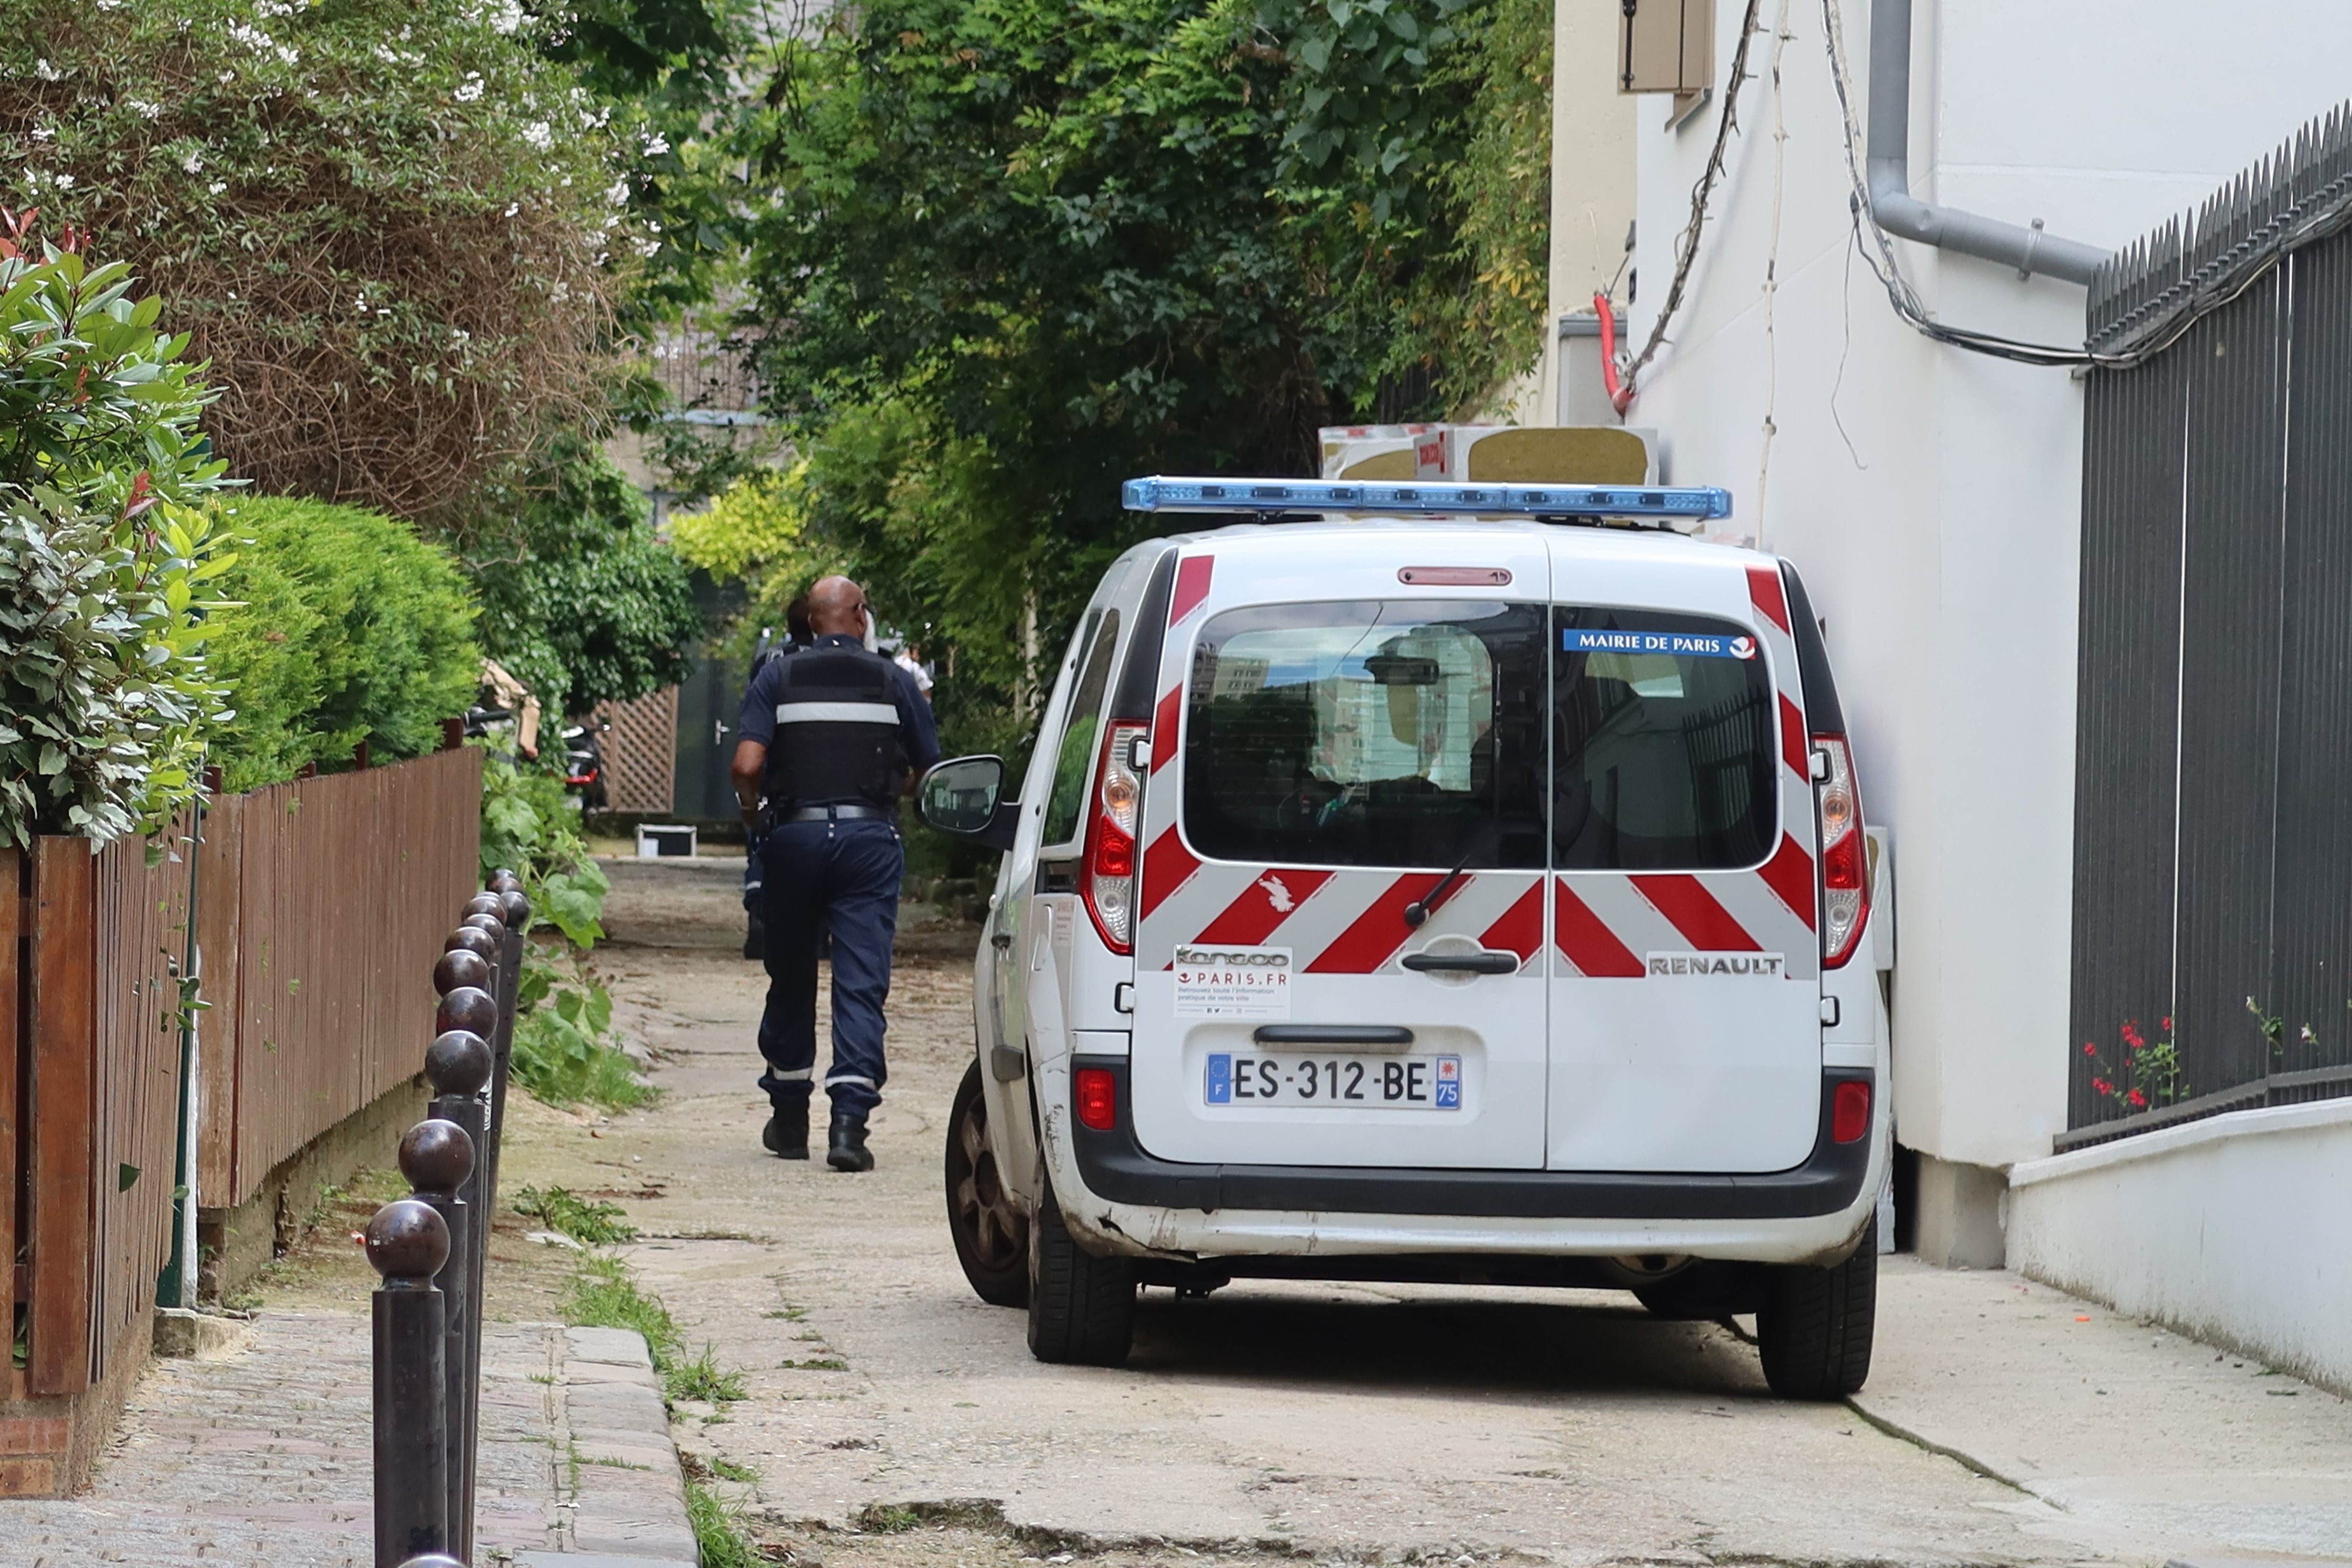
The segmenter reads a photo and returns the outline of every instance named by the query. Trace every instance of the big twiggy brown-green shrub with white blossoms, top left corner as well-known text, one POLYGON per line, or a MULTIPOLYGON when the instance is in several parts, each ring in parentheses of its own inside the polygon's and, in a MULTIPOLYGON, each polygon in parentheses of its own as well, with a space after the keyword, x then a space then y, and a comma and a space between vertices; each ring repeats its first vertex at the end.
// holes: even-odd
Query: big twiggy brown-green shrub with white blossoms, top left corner
POLYGON ((609 108, 539 35, 480 0, 0 0, 0 162, 188 320, 240 475, 423 517, 595 404, 635 244, 609 108))

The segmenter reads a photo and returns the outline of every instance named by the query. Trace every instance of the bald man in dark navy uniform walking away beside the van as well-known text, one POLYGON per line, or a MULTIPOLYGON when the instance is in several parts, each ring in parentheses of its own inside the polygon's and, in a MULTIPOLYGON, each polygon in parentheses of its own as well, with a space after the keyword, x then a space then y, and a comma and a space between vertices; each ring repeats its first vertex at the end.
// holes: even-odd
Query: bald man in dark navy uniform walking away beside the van
POLYGON ((762 1143, 809 1157, 816 947, 833 931, 833 1131, 826 1164, 873 1171, 866 1117, 882 1100, 882 1004, 898 929, 898 797, 938 762, 931 705, 866 649, 866 592, 844 576, 809 590, 811 646, 771 658, 743 693, 734 785, 760 844, 767 1013, 760 1056, 774 1117, 762 1143))

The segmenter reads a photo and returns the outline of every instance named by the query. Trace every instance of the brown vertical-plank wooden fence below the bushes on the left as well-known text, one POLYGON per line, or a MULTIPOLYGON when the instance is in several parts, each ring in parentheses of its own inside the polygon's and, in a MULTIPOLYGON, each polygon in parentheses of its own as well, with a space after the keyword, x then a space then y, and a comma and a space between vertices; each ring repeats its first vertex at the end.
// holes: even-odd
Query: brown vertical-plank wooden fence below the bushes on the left
POLYGON ((186 823, 99 853, 0 849, 0 1260, 16 1260, 0 1321, 24 1354, 0 1396, 0 1493, 68 1490, 146 1356, 179 1185, 191 893, 209 1208, 416 1074, 433 959, 477 882, 480 780, 480 752, 452 750, 219 797, 200 849, 186 823))

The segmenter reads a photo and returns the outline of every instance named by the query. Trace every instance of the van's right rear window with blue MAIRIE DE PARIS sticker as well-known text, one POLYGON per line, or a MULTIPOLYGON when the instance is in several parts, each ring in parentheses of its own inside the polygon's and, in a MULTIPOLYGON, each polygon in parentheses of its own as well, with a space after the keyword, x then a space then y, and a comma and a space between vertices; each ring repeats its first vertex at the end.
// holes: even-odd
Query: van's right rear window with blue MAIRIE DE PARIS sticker
POLYGON ((1552 865, 1726 870, 1780 837, 1771 672, 1729 621, 1559 607, 1552 865))

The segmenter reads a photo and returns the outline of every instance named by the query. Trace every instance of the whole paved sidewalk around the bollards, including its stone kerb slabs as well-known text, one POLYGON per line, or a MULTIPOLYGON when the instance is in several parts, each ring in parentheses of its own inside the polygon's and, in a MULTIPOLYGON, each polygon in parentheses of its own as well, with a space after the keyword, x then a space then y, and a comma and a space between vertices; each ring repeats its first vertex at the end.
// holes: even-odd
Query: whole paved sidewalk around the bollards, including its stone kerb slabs
MULTIPOLYGON (((89 1493, 0 1505, 0 1563, 372 1568, 372 1467, 367 1319, 261 1314, 146 1371, 89 1493)), ((477 1486, 477 1561, 696 1561, 635 1333, 492 1324, 477 1486)))

